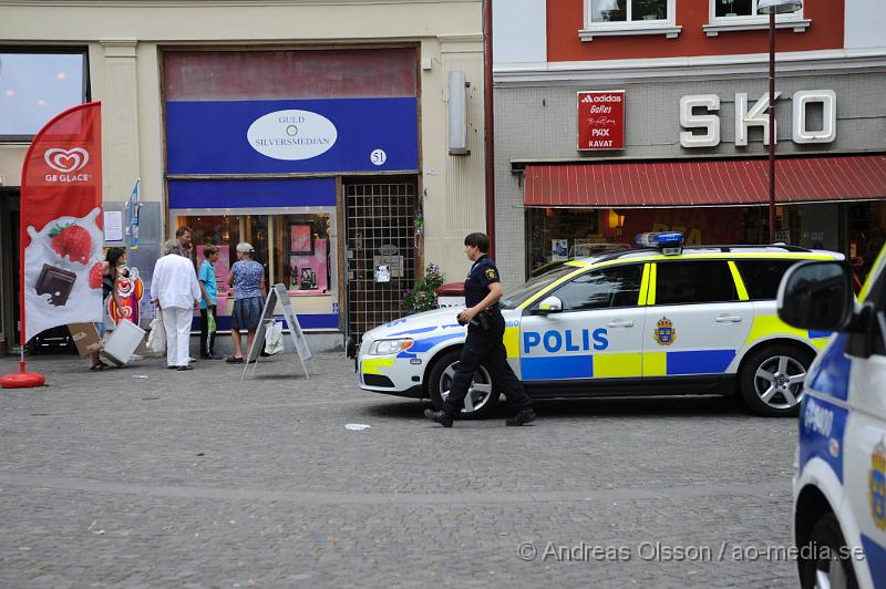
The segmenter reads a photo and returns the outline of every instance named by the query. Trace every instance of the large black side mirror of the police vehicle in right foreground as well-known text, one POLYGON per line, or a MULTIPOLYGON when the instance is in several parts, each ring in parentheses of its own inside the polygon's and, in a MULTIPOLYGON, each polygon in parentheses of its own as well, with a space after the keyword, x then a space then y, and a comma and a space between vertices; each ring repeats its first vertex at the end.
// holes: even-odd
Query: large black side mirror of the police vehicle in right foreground
POLYGON ((800 329, 846 331, 852 323, 852 269, 845 262, 793 266, 779 286, 779 319, 800 329))

